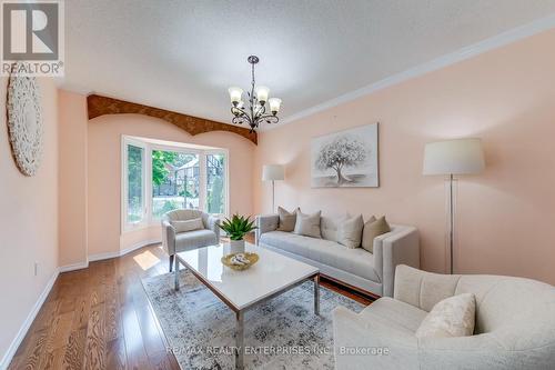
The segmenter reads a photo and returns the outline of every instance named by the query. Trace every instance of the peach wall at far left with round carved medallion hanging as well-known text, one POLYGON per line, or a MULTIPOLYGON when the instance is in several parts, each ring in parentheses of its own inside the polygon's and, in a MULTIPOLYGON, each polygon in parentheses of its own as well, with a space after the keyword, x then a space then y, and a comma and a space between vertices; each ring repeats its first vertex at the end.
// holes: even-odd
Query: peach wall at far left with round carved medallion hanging
POLYGON ((7 84, 8 79, 0 78, 0 358, 58 271, 56 84, 52 79, 39 79, 44 152, 34 177, 21 174, 11 154, 6 123, 7 84))

